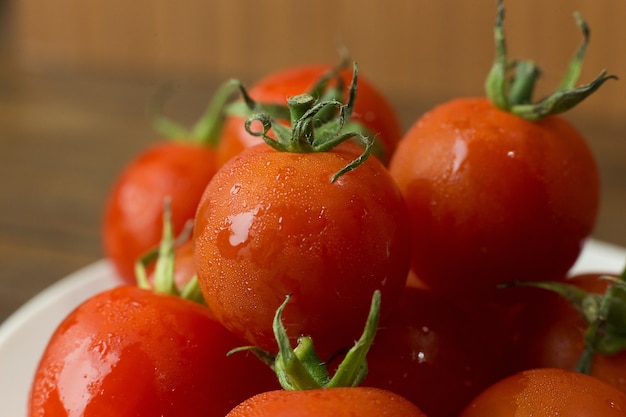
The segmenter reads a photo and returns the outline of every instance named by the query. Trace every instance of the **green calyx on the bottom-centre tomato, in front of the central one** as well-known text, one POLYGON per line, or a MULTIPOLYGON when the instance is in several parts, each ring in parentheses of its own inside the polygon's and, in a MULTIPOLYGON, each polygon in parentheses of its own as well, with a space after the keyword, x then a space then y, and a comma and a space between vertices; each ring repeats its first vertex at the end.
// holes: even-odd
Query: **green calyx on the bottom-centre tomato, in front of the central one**
POLYGON ((330 375, 327 366, 315 352, 313 340, 308 336, 298 339, 292 348, 285 327, 282 324, 282 313, 289 296, 276 311, 273 330, 278 342, 278 354, 272 354, 254 346, 244 346, 230 351, 251 351, 263 362, 268 364, 278 377, 281 386, 286 390, 309 390, 334 387, 358 386, 367 375, 367 352, 369 351, 380 316, 380 291, 372 296, 370 312, 365 323, 363 334, 346 353, 334 375, 330 375))

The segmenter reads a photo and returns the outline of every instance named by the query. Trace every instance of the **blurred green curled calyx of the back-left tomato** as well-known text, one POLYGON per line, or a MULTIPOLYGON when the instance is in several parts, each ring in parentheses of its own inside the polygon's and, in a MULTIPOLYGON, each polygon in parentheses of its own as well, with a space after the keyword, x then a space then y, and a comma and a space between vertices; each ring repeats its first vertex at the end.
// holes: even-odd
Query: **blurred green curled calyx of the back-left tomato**
POLYGON ((171 93, 171 86, 166 86, 157 92, 154 100, 149 103, 146 113, 152 127, 166 138, 215 147, 222 133, 227 105, 237 89, 237 84, 231 80, 222 83, 200 119, 191 129, 163 115, 163 102, 171 93))

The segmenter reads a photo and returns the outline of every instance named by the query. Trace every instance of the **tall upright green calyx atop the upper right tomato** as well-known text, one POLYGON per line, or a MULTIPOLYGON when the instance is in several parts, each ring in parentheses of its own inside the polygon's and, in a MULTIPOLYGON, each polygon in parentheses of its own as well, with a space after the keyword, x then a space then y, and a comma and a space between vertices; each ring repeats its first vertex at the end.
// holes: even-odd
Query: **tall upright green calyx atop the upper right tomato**
POLYGON ((607 75, 603 70, 590 83, 576 86, 589 42, 589 27, 580 14, 576 13, 574 17, 583 33, 583 42, 558 88, 549 96, 533 103, 533 90, 541 72, 532 61, 508 60, 503 29, 504 5, 502 0, 498 1, 494 27, 496 57, 485 82, 487 96, 497 108, 536 121, 568 111, 598 90, 605 81, 617 79, 615 75, 607 75))

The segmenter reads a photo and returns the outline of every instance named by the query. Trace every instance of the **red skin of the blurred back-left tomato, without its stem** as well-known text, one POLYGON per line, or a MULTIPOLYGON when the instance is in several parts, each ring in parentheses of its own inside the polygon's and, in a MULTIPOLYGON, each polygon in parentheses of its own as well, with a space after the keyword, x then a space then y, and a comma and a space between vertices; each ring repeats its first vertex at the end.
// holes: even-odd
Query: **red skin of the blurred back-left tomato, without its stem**
POLYGON ((135 262, 158 246, 165 199, 171 199, 178 235, 193 219, 215 170, 212 148, 174 141, 146 149, 124 168, 107 197, 102 224, 105 255, 124 281, 136 282, 135 262))

